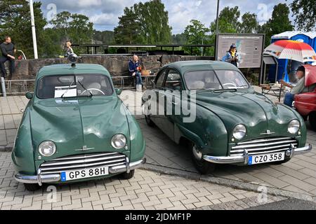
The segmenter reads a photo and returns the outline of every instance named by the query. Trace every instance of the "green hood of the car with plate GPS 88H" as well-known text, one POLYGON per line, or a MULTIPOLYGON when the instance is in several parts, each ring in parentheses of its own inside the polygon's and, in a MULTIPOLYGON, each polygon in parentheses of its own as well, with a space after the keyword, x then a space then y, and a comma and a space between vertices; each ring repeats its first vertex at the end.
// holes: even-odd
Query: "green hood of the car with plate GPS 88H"
MULTIPOLYGON (((46 99, 32 106, 31 130, 34 148, 42 141, 55 142, 55 158, 84 153, 114 151, 110 141, 114 134, 129 139, 126 114, 117 97, 82 99, 46 99)), ((53 159, 53 158, 50 158, 53 159)))

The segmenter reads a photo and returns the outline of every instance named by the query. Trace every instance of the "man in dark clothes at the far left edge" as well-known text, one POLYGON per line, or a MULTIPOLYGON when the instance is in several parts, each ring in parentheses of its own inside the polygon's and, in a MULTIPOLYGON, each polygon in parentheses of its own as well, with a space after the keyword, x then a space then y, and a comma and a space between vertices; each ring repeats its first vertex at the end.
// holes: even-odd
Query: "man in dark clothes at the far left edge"
POLYGON ((15 45, 11 41, 10 36, 6 36, 4 43, 0 44, 1 56, 0 56, 0 67, 1 67, 1 76, 6 77, 6 68, 4 63, 6 61, 10 62, 10 72, 11 75, 15 70, 15 57, 14 53, 16 52, 15 45))

